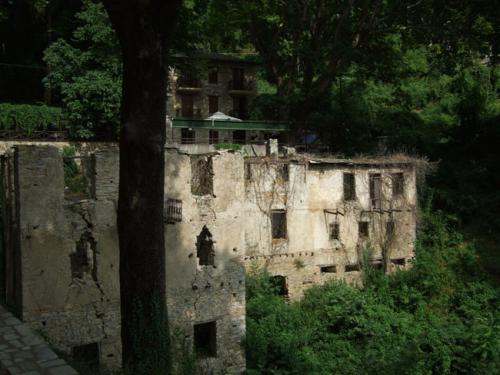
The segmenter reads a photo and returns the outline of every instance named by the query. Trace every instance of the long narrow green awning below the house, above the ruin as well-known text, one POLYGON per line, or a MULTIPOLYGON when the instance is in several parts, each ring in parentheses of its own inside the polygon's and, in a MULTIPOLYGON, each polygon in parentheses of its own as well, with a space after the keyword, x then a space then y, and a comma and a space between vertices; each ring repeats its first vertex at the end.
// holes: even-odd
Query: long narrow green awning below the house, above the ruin
POLYGON ((174 128, 191 129, 262 130, 270 132, 283 132, 290 130, 289 123, 274 121, 211 121, 173 119, 172 125, 174 128))

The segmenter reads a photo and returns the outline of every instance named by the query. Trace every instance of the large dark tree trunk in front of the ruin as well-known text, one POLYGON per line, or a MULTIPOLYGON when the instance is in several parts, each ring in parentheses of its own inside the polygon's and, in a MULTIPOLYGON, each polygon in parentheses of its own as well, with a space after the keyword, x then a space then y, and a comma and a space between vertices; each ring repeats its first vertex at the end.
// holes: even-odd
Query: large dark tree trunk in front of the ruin
POLYGON ((118 199, 123 365, 134 375, 166 374, 166 58, 180 1, 103 2, 123 57, 118 199))

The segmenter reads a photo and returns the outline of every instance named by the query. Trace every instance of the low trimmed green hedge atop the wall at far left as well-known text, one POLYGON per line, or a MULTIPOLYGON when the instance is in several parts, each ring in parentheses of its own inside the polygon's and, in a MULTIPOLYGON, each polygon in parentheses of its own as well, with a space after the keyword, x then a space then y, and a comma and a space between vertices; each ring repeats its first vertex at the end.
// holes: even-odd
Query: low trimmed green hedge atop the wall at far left
POLYGON ((0 103, 0 129, 31 134, 62 127, 61 110, 46 105, 0 103))

